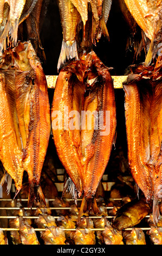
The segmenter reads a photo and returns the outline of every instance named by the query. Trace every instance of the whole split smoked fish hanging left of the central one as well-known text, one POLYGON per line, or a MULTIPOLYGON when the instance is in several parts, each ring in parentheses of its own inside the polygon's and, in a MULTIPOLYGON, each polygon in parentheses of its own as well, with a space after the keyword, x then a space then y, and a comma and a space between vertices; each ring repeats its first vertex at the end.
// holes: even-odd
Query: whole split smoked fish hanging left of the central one
MULTIPOLYGON (((1 161, 21 190, 23 171, 29 176, 29 201, 43 200, 40 175, 50 136, 46 76, 30 42, 18 42, 3 54, 1 75, 1 161)), ((15 195, 16 196, 16 195, 15 195)))

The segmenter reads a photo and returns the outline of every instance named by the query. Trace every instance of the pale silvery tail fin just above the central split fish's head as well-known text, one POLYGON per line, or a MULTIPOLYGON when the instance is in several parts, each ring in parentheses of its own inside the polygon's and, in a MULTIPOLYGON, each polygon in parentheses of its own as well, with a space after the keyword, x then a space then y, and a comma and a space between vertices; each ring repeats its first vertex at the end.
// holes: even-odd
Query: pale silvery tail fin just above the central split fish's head
POLYGON ((73 58, 78 59, 76 41, 74 41, 72 45, 67 45, 67 43, 62 40, 60 57, 57 64, 57 71, 59 72, 59 69, 66 62, 67 59, 69 60, 73 58))

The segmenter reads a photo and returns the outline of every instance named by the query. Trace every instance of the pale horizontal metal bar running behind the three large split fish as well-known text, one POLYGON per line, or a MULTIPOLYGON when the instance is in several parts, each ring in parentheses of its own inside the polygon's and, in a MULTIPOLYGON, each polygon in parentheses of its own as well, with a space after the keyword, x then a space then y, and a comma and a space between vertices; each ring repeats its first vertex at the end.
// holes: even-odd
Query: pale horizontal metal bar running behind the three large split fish
MULTIPOLYGON (((48 88, 54 89, 56 86, 58 76, 46 76, 48 88)), ((122 89, 122 82, 127 79, 127 76, 112 76, 114 88, 122 89)))

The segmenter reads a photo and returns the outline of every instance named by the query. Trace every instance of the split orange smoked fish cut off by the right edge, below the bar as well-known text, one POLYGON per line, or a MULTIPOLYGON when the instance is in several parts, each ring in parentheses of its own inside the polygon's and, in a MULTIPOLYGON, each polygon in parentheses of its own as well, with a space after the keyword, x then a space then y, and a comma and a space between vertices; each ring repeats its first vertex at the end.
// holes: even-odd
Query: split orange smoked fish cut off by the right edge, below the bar
POLYGON ((128 161, 132 176, 147 202, 153 198, 153 220, 158 222, 162 168, 162 86, 154 66, 132 68, 125 90, 128 161), (158 76, 157 76, 158 77, 158 76))

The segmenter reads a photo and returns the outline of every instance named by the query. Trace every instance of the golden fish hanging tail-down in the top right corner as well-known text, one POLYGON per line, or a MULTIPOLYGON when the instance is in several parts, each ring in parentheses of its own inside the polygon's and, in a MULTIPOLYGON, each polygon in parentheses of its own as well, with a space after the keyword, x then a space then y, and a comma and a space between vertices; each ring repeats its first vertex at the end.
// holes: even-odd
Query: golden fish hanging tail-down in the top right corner
POLYGON ((162 1, 161 0, 124 0, 127 8, 134 17, 139 27, 150 39, 150 47, 145 59, 145 65, 149 66, 152 58, 158 51, 161 42, 162 27, 162 1))

